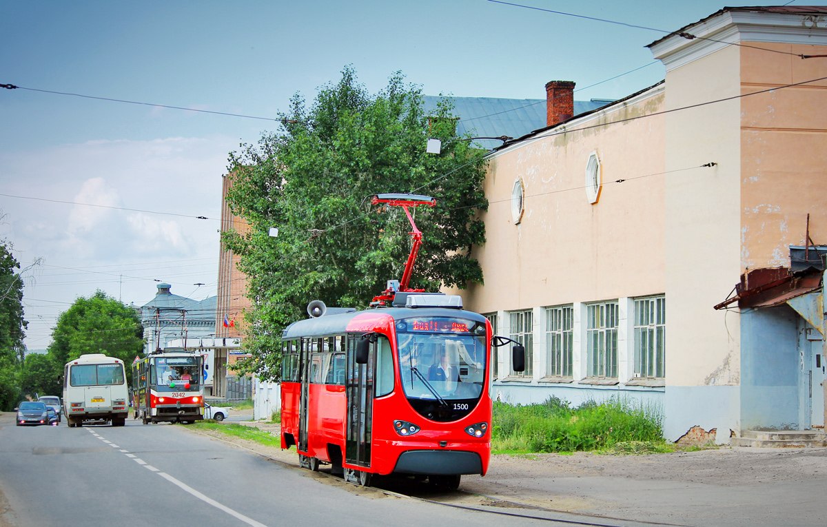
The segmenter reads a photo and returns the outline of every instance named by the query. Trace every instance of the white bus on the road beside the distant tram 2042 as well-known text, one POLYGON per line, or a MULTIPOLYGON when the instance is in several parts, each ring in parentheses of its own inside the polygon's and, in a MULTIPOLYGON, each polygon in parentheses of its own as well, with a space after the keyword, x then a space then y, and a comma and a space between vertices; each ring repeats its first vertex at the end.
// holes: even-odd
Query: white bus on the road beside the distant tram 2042
POLYGON ((86 354, 69 361, 63 371, 63 413, 69 426, 84 421, 127 421, 127 376, 120 358, 86 354))

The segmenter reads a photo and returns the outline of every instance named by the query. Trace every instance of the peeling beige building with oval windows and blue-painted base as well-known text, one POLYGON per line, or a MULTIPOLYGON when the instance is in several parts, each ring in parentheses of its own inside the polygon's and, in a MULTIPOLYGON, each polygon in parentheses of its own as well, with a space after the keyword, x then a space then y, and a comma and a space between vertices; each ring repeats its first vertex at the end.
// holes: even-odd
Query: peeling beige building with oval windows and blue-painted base
POLYGON ((549 83, 549 126, 490 154, 485 285, 461 294, 530 352, 500 354, 495 396, 621 396, 668 439, 823 428, 827 7, 724 8, 648 47, 664 82, 563 121, 573 85, 549 83))

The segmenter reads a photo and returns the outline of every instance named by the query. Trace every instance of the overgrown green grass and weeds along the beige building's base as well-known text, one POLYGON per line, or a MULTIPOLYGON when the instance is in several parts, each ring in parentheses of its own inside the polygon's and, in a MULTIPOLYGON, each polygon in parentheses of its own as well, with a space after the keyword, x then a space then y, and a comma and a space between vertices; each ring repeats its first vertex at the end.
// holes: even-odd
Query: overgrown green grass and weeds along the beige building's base
POLYGON ((491 443, 499 452, 573 452, 623 442, 663 442, 662 412, 612 398, 572 409, 549 397, 538 405, 495 402, 491 443))

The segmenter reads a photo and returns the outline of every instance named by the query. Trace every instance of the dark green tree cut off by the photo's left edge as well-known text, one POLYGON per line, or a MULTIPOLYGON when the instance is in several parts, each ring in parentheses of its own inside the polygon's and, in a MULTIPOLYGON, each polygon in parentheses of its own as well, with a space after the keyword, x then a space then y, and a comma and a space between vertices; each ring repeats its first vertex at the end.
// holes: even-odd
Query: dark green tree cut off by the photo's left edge
POLYGON ((0 410, 11 410, 21 395, 20 369, 26 347, 23 282, 12 246, 0 241, 0 410))

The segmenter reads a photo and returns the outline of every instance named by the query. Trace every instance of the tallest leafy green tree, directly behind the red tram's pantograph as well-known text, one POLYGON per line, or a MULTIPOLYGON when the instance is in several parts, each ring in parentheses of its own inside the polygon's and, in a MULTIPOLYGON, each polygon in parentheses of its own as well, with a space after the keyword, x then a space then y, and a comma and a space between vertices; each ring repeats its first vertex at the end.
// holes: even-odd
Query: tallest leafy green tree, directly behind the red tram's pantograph
POLYGON ((222 239, 249 280, 242 345, 253 358, 242 368, 270 379, 280 375, 281 330, 306 317, 308 301, 366 307, 401 278, 409 221, 398 207, 371 207, 372 195, 436 198, 412 210, 424 238, 411 286, 429 290, 482 282, 471 245, 485 241, 478 213, 488 205, 485 159, 456 135, 450 100, 426 113, 421 90, 399 73, 370 95, 345 68, 312 105, 296 95, 281 117, 279 132, 230 156, 227 202, 251 230, 222 239), (442 140, 442 154, 426 153, 428 138, 442 140))

